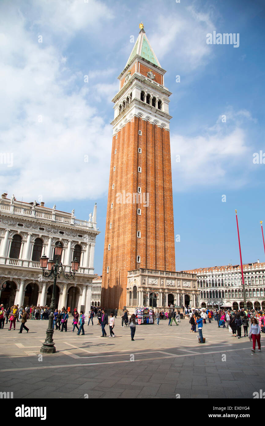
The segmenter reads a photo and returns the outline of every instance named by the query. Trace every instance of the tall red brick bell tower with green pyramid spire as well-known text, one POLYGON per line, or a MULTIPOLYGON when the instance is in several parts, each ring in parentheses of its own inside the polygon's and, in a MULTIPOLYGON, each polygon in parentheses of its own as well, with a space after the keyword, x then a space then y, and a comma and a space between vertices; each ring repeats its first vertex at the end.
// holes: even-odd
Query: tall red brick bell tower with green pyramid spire
POLYGON ((127 305, 128 271, 175 271, 168 113, 171 92, 144 26, 119 75, 105 231, 101 306, 127 305))

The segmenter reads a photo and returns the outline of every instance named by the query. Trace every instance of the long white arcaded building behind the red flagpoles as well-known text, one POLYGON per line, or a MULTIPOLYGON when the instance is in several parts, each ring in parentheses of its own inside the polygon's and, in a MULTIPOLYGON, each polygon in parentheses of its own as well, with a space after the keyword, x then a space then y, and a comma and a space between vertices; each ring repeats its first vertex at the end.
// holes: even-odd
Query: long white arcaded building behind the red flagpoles
MULTIPOLYGON (((240 265, 198 268, 190 273, 197 274, 199 304, 201 307, 243 307, 243 288, 240 265)), ((265 263, 243 265, 245 295, 248 308, 265 308, 265 263)))

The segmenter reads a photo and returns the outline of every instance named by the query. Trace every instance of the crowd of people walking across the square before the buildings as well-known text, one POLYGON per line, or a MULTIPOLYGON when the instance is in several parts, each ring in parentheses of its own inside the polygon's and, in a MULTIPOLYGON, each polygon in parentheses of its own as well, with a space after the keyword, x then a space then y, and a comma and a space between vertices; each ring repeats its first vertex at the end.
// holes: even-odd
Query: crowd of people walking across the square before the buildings
MULTIPOLYGON (((155 320, 157 325, 159 325, 160 320, 168 320, 168 325, 172 326, 173 322, 175 325, 178 325, 180 320, 184 317, 184 314, 180 310, 175 310, 174 306, 171 305, 165 311, 154 309, 150 310, 151 312, 151 321, 150 324, 154 324, 155 320)), ((109 337, 115 337, 114 334, 114 325, 115 319, 117 318, 118 310, 114 309, 108 318, 108 314, 103 308, 96 308, 91 306, 89 315, 88 315, 88 325, 94 325, 93 319, 97 317, 97 325, 101 327, 101 337, 106 337, 107 333, 105 327, 109 325, 109 337)), ((10 331, 16 329, 16 322, 21 322, 20 331, 22 333, 23 329, 28 333, 28 328, 26 327, 27 320, 48 320, 51 310, 48 306, 21 306, 18 305, 11 306, 11 308, 5 309, 3 304, 0 305, 0 329, 4 328, 5 324, 9 322, 10 331), (21 320, 21 321, 20 321, 21 320)), ((52 328, 58 331, 68 331, 67 325, 70 316, 70 308, 63 307, 62 309, 55 309, 53 313, 52 328)), ((254 311, 254 309, 240 309, 240 310, 217 310, 217 309, 206 309, 206 308, 193 308, 185 307, 185 316, 189 317, 189 323, 191 324, 190 333, 197 333, 198 343, 205 343, 205 338, 202 334, 203 325, 211 324, 213 321, 217 323, 218 328, 226 328, 231 333, 231 337, 248 337, 252 341, 253 347, 251 351, 256 351, 256 343, 258 345, 258 351, 261 351, 260 344, 260 333, 265 332, 265 312, 263 311, 254 311), (248 331, 250 325, 250 329, 248 331), (244 336, 242 336, 242 326, 244 330, 244 336)), ((77 311, 77 307, 74 308, 72 312, 72 325, 73 329, 71 333, 76 331, 77 335, 84 335, 84 325, 85 325, 85 314, 83 311, 80 313, 77 311)), ((124 309, 121 317, 122 327, 130 327, 131 329, 131 340, 134 340, 136 325, 141 324, 137 318, 137 313, 132 314, 129 318, 129 313, 127 309, 124 309)))

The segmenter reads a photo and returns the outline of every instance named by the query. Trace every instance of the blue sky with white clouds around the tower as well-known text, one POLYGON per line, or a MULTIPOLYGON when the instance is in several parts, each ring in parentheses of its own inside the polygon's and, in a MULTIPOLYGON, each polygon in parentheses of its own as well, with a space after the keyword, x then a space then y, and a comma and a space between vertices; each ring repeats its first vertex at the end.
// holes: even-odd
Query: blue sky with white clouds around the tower
POLYGON ((2 192, 87 220, 97 202, 102 273, 111 99, 143 21, 172 92, 176 270, 239 263, 235 208, 243 262, 265 261, 264 18, 262 0, 2 1, 0 144, 14 154, 2 192), (239 47, 206 44, 214 30, 239 47))

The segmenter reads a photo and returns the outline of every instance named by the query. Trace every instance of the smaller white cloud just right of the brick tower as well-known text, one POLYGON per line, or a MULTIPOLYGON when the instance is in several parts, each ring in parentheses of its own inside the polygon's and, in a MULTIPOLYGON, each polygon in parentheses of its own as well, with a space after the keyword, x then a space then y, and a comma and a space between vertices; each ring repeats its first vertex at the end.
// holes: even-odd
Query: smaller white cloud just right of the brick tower
POLYGON ((253 120, 248 111, 243 110, 234 112, 233 120, 231 114, 230 124, 218 119, 213 127, 205 127, 201 135, 171 135, 174 191, 198 186, 201 189, 218 185, 239 187, 246 183, 248 167, 244 158, 251 147, 247 144, 245 130, 239 127, 237 118, 240 116, 253 120))

